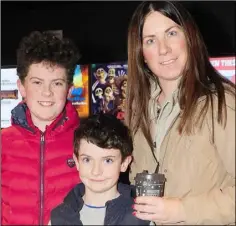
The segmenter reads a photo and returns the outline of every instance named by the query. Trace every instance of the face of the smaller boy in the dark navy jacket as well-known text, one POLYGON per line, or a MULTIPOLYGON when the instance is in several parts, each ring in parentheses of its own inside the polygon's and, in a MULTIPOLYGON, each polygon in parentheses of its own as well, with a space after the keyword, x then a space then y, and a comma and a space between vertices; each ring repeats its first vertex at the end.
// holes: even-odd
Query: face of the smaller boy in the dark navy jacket
POLYGON ((121 159, 120 150, 100 148, 85 139, 80 141, 78 159, 74 156, 81 181, 94 193, 117 189, 120 172, 126 171, 131 156, 121 159))

